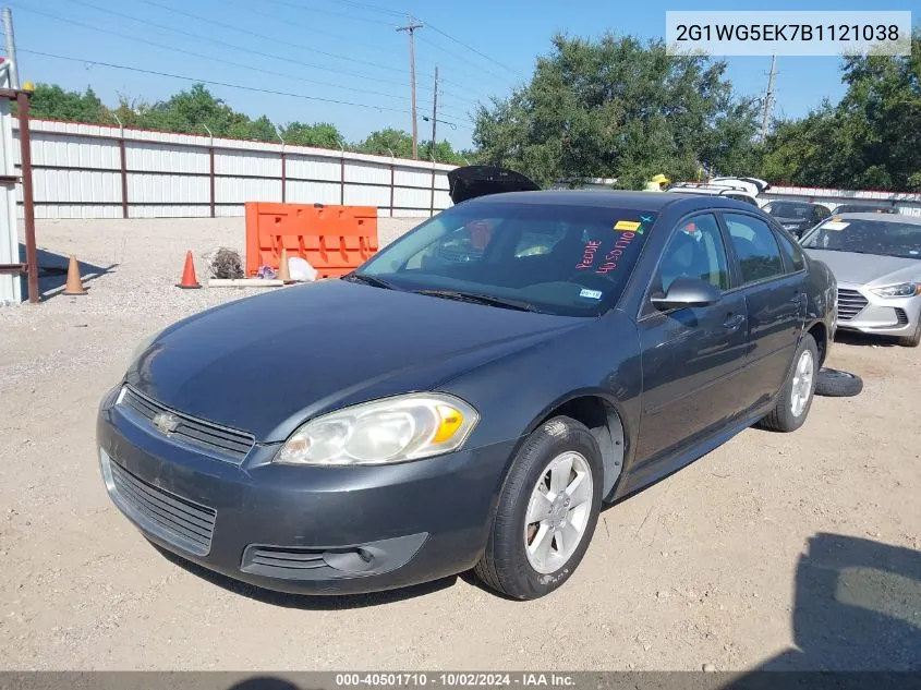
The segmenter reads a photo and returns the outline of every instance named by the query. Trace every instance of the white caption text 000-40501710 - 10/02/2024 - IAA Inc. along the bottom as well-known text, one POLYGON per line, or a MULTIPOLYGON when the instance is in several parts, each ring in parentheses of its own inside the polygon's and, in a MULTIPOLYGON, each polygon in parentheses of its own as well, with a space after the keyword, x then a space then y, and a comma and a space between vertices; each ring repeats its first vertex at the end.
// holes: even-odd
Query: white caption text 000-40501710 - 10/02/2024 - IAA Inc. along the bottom
POLYGON ((387 688, 401 687, 572 687, 575 679, 566 674, 477 674, 477 673, 384 673, 384 674, 337 674, 338 687, 375 686, 387 688))

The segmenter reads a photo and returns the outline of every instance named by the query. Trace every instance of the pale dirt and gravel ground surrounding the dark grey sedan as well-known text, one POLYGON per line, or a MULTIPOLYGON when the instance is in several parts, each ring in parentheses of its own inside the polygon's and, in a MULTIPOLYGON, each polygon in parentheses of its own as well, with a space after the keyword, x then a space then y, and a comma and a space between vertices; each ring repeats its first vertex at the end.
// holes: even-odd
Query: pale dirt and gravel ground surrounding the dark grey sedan
MULTIPOLYGON (((381 221, 390 239, 412 221, 381 221)), ((274 595, 155 550, 111 504, 96 407, 134 346, 252 291, 173 287, 242 219, 44 221, 89 294, 0 308, 0 667, 715 669, 921 664, 921 350, 848 338, 856 398, 749 429, 606 510, 549 597, 466 577, 361 597, 274 595), (93 274, 97 274, 96 277, 93 274)), ((62 279, 61 279, 62 280, 62 279)), ((46 288, 49 285, 46 281, 46 288)))

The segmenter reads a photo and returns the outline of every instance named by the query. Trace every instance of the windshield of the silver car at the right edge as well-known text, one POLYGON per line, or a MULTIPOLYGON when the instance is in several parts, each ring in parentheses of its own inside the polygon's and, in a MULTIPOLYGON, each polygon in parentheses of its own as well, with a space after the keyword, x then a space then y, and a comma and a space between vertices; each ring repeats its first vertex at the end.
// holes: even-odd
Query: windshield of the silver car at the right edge
POLYGON ((826 220, 801 242, 810 250, 921 258, 921 225, 889 220, 826 220))

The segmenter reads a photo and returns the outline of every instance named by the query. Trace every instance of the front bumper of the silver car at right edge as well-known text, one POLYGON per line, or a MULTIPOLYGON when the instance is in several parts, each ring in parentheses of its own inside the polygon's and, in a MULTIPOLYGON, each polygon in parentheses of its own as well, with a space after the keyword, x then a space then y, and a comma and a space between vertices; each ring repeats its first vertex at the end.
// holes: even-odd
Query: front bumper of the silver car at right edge
POLYGON ((921 318, 921 295, 881 298, 870 289, 838 283, 838 330, 875 336, 910 336, 921 318))

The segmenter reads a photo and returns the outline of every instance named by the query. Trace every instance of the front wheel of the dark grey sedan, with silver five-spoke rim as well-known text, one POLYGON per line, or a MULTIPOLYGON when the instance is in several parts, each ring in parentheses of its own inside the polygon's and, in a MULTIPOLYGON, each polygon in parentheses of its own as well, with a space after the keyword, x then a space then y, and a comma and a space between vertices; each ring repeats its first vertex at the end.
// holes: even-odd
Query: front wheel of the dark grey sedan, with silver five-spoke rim
POLYGON ((477 578, 490 589, 521 601, 540 598, 561 586, 582 561, 595 532, 603 472, 598 444, 584 424, 568 416, 556 416, 534 429, 516 455, 502 485, 486 549, 474 568, 477 578), (578 470, 575 481, 571 479, 572 471, 565 471, 567 459, 571 461, 572 470, 578 470), (556 477, 565 477, 557 481, 568 484, 568 489, 580 485, 582 489, 569 495, 549 488, 544 481, 552 467, 559 472, 556 477), (585 487, 586 477, 591 480, 590 488, 585 487), (543 493, 543 489, 550 495, 569 495, 575 505, 561 498, 541 510, 541 499, 532 494, 543 493), (577 504, 579 499, 582 501, 577 504), (540 525, 526 525, 529 510, 532 510, 532 518, 545 515, 544 521, 540 525), (573 538, 577 546, 570 550, 566 536, 579 528, 581 535, 573 538), (559 531, 555 532, 556 529, 559 531), (540 542, 537 537, 542 537, 540 542), (528 540, 538 552, 536 556, 529 557, 528 540), (542 559, 541 549, 536 547, 544 544, 547 545, 546 558, 542 559), (535 567, 540 565, 543 568, 535 567))

